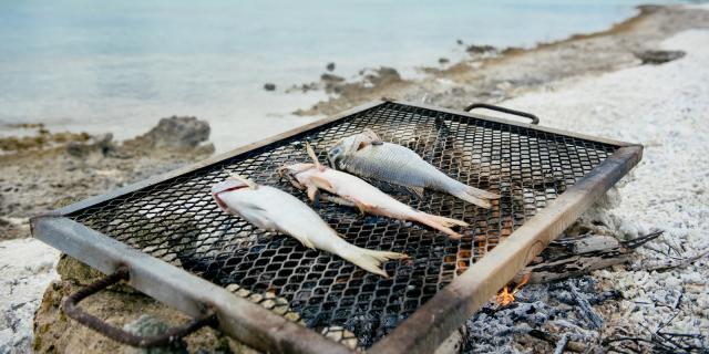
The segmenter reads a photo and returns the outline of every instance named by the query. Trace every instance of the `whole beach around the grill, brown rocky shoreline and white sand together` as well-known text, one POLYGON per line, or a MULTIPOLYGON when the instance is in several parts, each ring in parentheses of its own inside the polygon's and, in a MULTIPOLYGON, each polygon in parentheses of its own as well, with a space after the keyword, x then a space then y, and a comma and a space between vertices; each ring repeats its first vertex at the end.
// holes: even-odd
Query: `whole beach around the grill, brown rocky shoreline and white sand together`
MULTIPOLYGON (((534 49, 477 53, 443 69, 422 69, 427 72, 422 79, 407 80, 395 71, 379 70, 364 73, 359 82, 336 80, 330 82, 328 90, 337 91, 337 94, 298 114, 315 119, 382 96, 459 110, 472 102, 486 102, 538 114, 545 126, 644 144, 644 162, 620 184, 624 201, 604 214, 607 220, 603 222, 613 225, 628 237, 654 228, 667 229, 668 235, 651 247, 664 249, 666 244, 676 247, 675 243, 685 242, 691 246, 692 249, 685 250, 691 256, 708 246, 701 241, 701 235, 709 232, 700 225, 702 218, 709 217, 706 206, 701 208, 702 196, 709 192, 707 176, 702 179, 701 175, 701 168, 709 168, 709 144, 696 135, 709 134, 700 125, 701 112, 709 111, 705 103, 709 96, 706 84, 709 76, 700 65, 702 60, 709 59, 707 10, 706 6, 643 7, 638 15, 606 31, 542 43, 534 49), (646 62, 649 52, 682 52, 686 56, 655 65, 646 62), (574 119, 567 119, 568 116, 574 119), (688 142, 695 145, 687 145, 688 142), (678 155, 669 155, 665 148, 678 155), (705 154, 687 160, 679 150, 688 148, 705 154), (681 164, 689 167, 682 169, 681 164), (653 168, 678 169, 686 175, 674 174, 677 190, 662 191, 659 181, 664 177, 653 168), (685 198, 687 202, 674 198, 685 198), (679 225, 674 220, 679 220, 679 225)), ((319 90, 326 90, 326 83, 319 84, 322 85, 319 90)), ((29 146, 0 155, 0 190, 3 190, 0 240, 18 239, 0 241, 0 271, 3 273, 0 313, 4 315, 0 320, 0 352, 30 350, 32 316, 48 283, 58 279, 58 252, 28 238, 31 215, 210 154, 209 148, 204 148, 204 139, 196 145, 188 143, 186 149, 156 148, 160 144, 140 138, 138 143, 127 144, 83 135, 76 135, 75 139, 50 140, 47 146, 29 146), (43 257, 32 256, 39 253, 43 257)), ((598 306, 609 325, 596 336, 588 336, 597 340, 592 344, 600 348, 600 340, 618 335, 620 327, 629 329, 628 333, 633 335, 645 335, 640 324, 657 325, 667 320, 674 314, 668 309, 637 304, 647 299, 655 300, 660 291, 666 292, 667 299, 675 300, 681 290, 691 301, 691 305, 687 301, 677 305, 675 310, 680 313, 669 329, 687 332, 692 327, 709 327, 706 320, 709 315, 706 258, 667 272, 644 270, 644 262, 658 258, 655 253, 653 250, 640 251, 630 268, 594 273, 599 287, 618 289, 624 299, 598 306)), ((528 289, 525 291, 532 293, 541 288, 532 285, 528 289)), ((473 317, 469 325, 472 329, 480 321, 480 317, 473 317)), ((503 327, 516 329, 515 325, 503 327)), ((582 329, 565 331, 569 335, 585 333, 582 329)), ((71 332, 66 335, 72 335, 71 332)), ((90 335, 85 331, 82 333, 90 335)), ((708 335, 706 331, 699 334, 708 335)), ((113 343, 96 344, 96 341, 89 340, 99 345, 93 348, 104 352, 121 348, 113 343)), ((515 335, 514 341, 505 345, 523 350, 524 345, 520 343, 530 345, 523 335, 515 335)), ((485 348, 482 344, 476 347, 485 348)), ((543 343, 532 346, 549 350, 548 344, 543 343)))

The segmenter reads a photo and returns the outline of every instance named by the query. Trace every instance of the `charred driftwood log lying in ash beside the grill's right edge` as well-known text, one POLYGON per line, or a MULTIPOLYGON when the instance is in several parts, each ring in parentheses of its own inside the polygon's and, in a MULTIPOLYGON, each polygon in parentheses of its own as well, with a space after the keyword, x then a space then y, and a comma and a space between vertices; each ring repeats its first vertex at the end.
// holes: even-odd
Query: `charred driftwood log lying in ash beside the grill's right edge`
POLYGON ((515 277, 514 282, 520 282, 528 273, 531 283, 544 283, 624 263, 630 259, 636 248, 661 233, 662 231, 657 231, 628 241, 598 235, 563 238, 552 242, 515 277))

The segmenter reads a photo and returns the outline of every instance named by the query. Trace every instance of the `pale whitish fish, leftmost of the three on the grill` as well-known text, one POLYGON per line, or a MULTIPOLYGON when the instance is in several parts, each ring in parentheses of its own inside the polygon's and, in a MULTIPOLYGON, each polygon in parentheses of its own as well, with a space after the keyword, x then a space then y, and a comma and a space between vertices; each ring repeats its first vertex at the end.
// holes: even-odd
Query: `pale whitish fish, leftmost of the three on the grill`
POLYGON ((408 258, 403 253, 353 246, 298 198, 240 176, 233 175, 214 185, 212 196, 219 208, 228 214, 238 215, 260 229, 289 235, 307 248, 335 253, 374 274, 388 278, 381 263, 408 258))

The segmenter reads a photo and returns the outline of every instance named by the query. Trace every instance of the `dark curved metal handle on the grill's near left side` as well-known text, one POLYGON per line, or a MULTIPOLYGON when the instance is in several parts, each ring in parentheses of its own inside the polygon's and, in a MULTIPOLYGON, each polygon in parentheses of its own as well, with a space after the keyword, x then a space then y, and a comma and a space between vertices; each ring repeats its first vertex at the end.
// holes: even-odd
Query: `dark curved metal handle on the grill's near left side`
POLYGON ((84 289, 81 289, 75 293, 66 296, 66 299, 62 303, 62 311, 70 319, 101 333, 106 337, 110 337, 123 344, 142 348, 166 346, 175 343, 176 341, 179 341, 182 337, 199 330, 205 325, 216 324, 216 315, 212 311, 208 311, 207 314, 198 319, 194 319, 183 325, 172 327, 163 334, 142 336, 129 333, 119 327, 114 327, 105 323, 103 320, 93 316, 79 308, 80 301, 122 280, 127 281, 130 277, 131 275, 129 269, 125 267, 120 267, 113 274, 97 280, 96 282, 89 284, 84 289))

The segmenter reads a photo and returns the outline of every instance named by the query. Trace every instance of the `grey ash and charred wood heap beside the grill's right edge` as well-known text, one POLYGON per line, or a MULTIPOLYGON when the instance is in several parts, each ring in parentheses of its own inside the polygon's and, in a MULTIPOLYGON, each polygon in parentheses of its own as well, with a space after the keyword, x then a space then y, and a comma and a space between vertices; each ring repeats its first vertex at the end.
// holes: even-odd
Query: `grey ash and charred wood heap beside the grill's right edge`
POLYGON ((612 189, 473 315, 449 340, 455 351, 709 353, 707 319, 692 315, 707 295, 686 269, 705 267, 707 254, 687 256, 661 230, 614 216, 618 198, 612 189), (644 281, 649 273, 662 281, 644 281))

